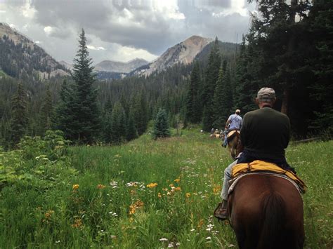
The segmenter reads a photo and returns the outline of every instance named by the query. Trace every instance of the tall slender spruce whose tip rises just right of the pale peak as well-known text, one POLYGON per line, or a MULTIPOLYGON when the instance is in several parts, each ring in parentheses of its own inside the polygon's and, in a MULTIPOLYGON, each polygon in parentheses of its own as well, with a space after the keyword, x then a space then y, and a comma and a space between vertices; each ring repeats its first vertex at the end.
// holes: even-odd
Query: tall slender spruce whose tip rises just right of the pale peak
POLYGON ((214 123, 214 91, 220 67, 221 55, 218 50, 218 39, 216 37, 214 46, 211 48, 211 53, 209 54, 204 89, 201 97, 202 104, 204 105, 202 128, 205 131, 211 130, 214 123))

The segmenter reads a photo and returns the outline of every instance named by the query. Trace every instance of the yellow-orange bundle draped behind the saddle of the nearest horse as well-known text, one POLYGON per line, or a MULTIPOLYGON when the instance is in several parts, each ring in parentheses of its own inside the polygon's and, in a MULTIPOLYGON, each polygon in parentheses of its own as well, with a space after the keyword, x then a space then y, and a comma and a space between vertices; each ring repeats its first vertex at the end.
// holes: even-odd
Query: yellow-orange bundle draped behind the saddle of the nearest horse
POLYGON ((297 184, 298 188, 302 193, 306 191, 306 184, 292 171, 284 170, 274 163, 268 163, 266 161, 255 160, 252 163, 238 163, 233 167, 232 177, 235 178, 244 173, 275 173, 276 175, 284 175, 285 178, 289 178, 295 184, 297 184))

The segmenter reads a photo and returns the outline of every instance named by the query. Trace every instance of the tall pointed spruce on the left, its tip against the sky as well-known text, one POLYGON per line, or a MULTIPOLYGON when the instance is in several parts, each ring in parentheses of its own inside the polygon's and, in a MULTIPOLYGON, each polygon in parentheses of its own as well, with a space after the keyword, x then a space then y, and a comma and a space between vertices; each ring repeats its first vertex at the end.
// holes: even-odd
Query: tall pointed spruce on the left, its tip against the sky
POLYGON ((97 90, 93 88, 95 75, 91 58, 86 47, 84 29, 79 35, 79 50, 74 59, 72 77, 74 79, 73 119, 70 123, 70 138, 77 142, 91 143, 98 137, 100 122, 98 119, 97 90))

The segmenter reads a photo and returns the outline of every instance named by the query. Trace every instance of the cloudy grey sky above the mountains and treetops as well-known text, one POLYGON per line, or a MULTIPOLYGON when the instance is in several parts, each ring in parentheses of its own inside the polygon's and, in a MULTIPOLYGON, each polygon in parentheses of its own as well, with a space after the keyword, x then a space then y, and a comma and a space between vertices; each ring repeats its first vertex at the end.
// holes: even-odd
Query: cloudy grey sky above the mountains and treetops
POLYGON ((255 7, 247 0, 0 0, 0 22, 58 61, 73 62, 82 28, 93 64, 152 61, 192 35, 240 43, 255 7))

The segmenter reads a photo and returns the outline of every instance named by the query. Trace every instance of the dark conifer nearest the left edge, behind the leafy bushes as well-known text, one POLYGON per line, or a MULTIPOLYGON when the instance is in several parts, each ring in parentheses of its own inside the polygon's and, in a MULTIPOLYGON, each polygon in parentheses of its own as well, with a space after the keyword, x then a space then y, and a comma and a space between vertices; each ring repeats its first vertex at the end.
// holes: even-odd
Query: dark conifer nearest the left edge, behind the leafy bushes
POLYGON ((18 83, 18 90, 13 96, 11 111, 11 144, 15 147, 20 138, 25 135, 27 128, 27 100, 22 83, 18 83))

